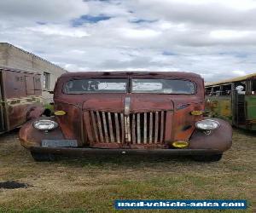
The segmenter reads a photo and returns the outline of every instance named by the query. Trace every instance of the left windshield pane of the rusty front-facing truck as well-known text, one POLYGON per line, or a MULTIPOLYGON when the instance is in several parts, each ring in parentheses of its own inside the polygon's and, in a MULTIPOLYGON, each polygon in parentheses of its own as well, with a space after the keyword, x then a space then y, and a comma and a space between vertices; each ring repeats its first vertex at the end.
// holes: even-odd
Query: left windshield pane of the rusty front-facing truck
POLYGON ((82 93, 125 93, 127 79, 78 79, 65 84, 66 94, 82 93))

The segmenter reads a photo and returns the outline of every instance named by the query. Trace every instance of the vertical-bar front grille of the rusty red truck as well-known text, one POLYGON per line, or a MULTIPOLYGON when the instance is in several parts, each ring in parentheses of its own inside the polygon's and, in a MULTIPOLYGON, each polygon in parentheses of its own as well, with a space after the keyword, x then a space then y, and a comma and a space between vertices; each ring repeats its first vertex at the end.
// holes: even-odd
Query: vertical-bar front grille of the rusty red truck
POLYGON ((118 112, 90 111, 91 142, 156 144, 164 141, 166 111, 118 112))

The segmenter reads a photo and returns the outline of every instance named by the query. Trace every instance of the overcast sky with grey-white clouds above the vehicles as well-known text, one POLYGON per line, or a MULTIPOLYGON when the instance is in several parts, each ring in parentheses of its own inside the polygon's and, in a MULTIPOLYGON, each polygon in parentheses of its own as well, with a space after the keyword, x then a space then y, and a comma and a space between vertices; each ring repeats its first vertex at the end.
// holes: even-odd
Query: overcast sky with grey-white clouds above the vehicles
POLYGON ((254 0, 0 1, 0 42, 68 71, 256 72, 254 0))

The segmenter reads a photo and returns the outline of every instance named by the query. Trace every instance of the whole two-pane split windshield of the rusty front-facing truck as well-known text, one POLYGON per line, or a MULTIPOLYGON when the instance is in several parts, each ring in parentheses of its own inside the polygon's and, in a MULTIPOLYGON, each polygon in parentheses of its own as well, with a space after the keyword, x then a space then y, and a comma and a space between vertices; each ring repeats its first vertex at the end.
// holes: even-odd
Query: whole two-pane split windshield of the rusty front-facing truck
MULTIPOLYGON (((128 79, 93 78, 73 79, 64 85, 66 94, 126 93, 128 79)), ((195 94, 195 83, 176 79, 131 79, 131 93, 195 94)))

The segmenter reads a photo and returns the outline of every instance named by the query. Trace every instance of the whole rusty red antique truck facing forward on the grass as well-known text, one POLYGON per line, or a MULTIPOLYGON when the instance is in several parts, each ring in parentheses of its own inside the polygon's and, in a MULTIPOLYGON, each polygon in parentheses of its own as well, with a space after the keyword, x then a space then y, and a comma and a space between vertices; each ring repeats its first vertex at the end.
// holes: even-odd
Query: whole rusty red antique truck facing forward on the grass
POLYGON ((35 160, 56 154, 160 153, 218 161, 230 124, 204 118, 205 89, 190 72, 70 72, 55 84, 55 116, 20 129, 35 160))

